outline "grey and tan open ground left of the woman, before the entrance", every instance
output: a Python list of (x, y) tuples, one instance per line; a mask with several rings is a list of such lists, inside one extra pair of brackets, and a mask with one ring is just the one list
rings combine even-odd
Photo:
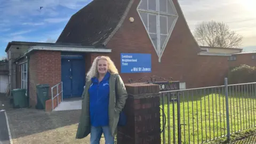
[[(14, 143), (90, 143), (90, 135), (75, 139), (81, 110), (45, 112), (24, 108), (6, 112)], [(103, 138), (100, 143), (105, 143)]]

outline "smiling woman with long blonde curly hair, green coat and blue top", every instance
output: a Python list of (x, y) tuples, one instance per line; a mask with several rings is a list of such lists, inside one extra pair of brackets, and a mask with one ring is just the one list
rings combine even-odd
[(82, 113), (76, 138), (91, 133), (91, 144), (99, 143), (102, 132), (106, 143), (114, 144), (119, 114), (128, 97), (122, 78), (109, 57), (97, 57), (86, 76)]

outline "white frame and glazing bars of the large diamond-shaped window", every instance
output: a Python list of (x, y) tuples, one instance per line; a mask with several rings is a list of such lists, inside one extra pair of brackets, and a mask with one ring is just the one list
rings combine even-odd
[[(174, 26), (175, 26), (175, 24), (176, 24), (176, 22), (177, 22), (177, 20), (178, 20), (179, 15), (178, 15), (178, 13), (177, 13), (177, 10), (175, 9), (175, 6), (174, 6), (172, 0), (166, 0), (166, 11), (167, 11), (166, 13), (160, 11), (160, 8), (159, 8), (160, 2), (159, 2), (159, 0), (155, 0), (155, 1), (156, 1), (156, 11), (148, 10), (148, 9), (149, 9), (149, 5), (147, 5), (147, 10), (139, 9), (139, 6), (140, 6), (140, 4), (142, 3), (142, 1), (147, 1), (147, 3), (148, 3), (149, 0), (141, 0), (140, 3), (139, 3), (138, 6), (137, 6), (137, 12), (138, 12), (138, 14), (139, 14), (139, 16), (140, 16), (140, 19), (141, 19), (143, 25), (145, 26), (145, 29), (147, 28), (146, 30), (147, 30), (147, 34), (148, 34), (149, 38), (150, 38), (150, 34), (153, 34), (153, 33), (149, 33), (149, 18), (148, 18), (148, 22), (147, 22), (147, 26), (146, 26), (145, 23), (143, 22), (143, 19), (142, 19), (142, 17), (141, 17), (141, 15), (140, 15), (139, 12), (147, 13), (147, 17), (148, 17), (149, 14), (154, 14), (154, 15), (156, 15), (157, 47), (154, 45), (154, 43), (153, 43), (153, 41), (151, 40), (151, 38), (150, 38), (150, 41), (151, 41), (151, 43), (153, 44), (154, 49), (155, 49), (155, 51), (156, 51), (156, 53), (157, 53), (157, 55), (158, 55), (158, 61), (161, 62), (161, 57), (162, 57), (162, 55), (163, 55), (163, 52), (164, 52), (165, 47), (166, 47), (166, 45), (167, 45), (167, 42), (168, 42), (169, 39), (170, 39), (170, 36), (171, 36), (171, 34), (172, 34), (173, 28), (174, 28)], [(171, 4), (171, 6), (173, 7), (174, 14), (168, 13), (168, 4), (167, 4), (167, 1), (169, 1), (170, 4)], [(166, 25), (166, 26), (167, 26), (167, 35), (166, 35), (166, 34), (161, 34), (161, 29), (160, 29), (160, 16), (166, 17), (166, 19), (167, 19), (167, 25)], [(171, 28), (170, 28), (170, 31), (169, 31), (169, 28), (168, 28), (168, 17), (169, 17), (169, 16), (175, 18), (174, 21), (173, 21), (173, 25), (172, 25)], [(169, 31), (169, 33), (168, 33), (168, 31)], [(163, 43), (163, 49), (161, 49), (161, 35), (167, 36), (166, 39), (165, 39), (165, 41), (164, 41), (164, 43)]]

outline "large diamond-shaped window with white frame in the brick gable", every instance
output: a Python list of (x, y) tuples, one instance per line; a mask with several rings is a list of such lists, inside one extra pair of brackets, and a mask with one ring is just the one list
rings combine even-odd
[(175, 6), (172, 0), (141, 0), (138, 12), (160, 61), (178, 19)]

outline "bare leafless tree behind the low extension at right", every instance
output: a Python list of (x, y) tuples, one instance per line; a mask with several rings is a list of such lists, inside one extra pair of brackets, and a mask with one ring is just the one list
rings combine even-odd
[(196, 41), (203, 46), (236, 48), (242, 45), (243, 37), (229, 29), (223, 22), (202, 22), (194, 31)]

